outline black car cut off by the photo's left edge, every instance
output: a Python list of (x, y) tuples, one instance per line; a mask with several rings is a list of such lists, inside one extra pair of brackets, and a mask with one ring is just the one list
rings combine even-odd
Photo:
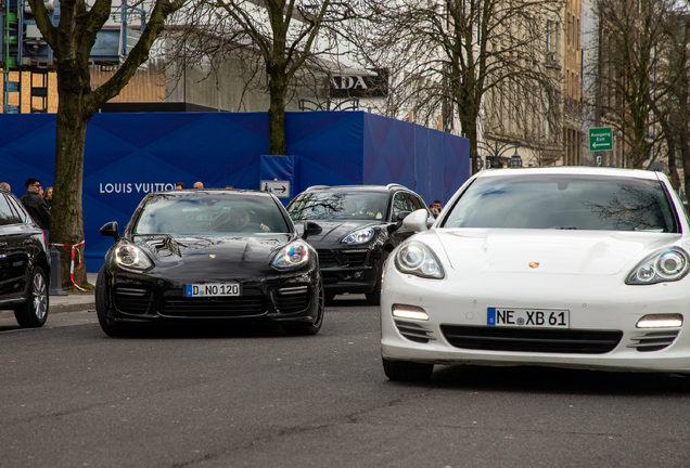
[(0, 310), (13, 310), (22, 327), (40, 327), (48, 318), (47, 246), (22, 202), (0, 188)]

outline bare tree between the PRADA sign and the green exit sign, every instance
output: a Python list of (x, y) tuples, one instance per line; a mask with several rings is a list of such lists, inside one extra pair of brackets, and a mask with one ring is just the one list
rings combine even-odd
[[(562, 1), (371, 2), (373, 26), (357, 43), (367, 62), (392, 69), (388, 114), (412, 110), (433, 125), (442, 109), (446, 131), (457, 118), (473, 171), (482, 122), (491, 139), (535, 129), (558, 138), (561, 76), (547, 60), (546, 31), (559, 23)], [(501, 128), (509, 120), (514, 128)]]

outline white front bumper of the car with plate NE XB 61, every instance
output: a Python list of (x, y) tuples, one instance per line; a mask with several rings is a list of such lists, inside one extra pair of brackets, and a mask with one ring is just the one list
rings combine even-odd
[[(424, 280), (403, 275), (388, 265), (381, 295), (383, 358), (434, 364), (545, 365), (690, 373), (690, 333), (685, 332), (687, 324), (646, 329), (636, 326), (642, 316), (649, 314), (681, 314), (683, 320), (689, 320), (688, 278), (657, 285), (628, 286), (615, 275), (471, 275), (452, 270), (446, 273), (444, 280)], [(394, 317), (394, 303), (422, 308), (429, 314), (429, 321)], [(590, 340), (604, 344), (600, 348), (552, 348), (557, 351), (549, 351), (548, 347), (546, 350), (529, 347), (516, 348), (527, 351), (511, 349), (502, 342), (528, 340), (535, 334), (525, 327), (489, 327), (488, 308), (567, 310), (568, 334), (574, 341)], [(487, 338), (494, 330), (507, 334)], [(467, 340), (467, 337), (457, 339), (458, 335), (465, 332), (476, 333), (480, 338), (475, 341), (493, 340), (498, 343), (495, 344), (498, 349), (477, 346), (472, 339)], [(547, 333), (539, 339), (548, 342), (561, 337)]]

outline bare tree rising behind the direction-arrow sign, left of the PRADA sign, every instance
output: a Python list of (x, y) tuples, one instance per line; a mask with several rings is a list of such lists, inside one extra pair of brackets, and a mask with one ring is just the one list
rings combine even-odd
[(331, 0), (196, 0), (184, 11), (187, 27), (175, 34), (171, 56), (184, 63), (212, 65), (239, 58), (247, 83), (265, 83), (270, 153), (284, 155), (285, 101), (296, 82), (325, 83), (320, 55), (335, 53), (336, 43), (323, 26), (352, 16), (353, 6)]

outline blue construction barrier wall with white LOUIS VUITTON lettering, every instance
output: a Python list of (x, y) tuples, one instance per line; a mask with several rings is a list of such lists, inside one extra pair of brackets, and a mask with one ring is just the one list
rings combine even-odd
[[(290, 180), (291, 196), (311, 185), (395, 182), (445, 203), (470, 177), (469, 140), (400, 120), (288, 113), (290, 156), (267, 156), (268, 127), (266, 113), (97, 114), (84, 162), (87, 271), (113, 244), (99, 229), (124, 225), (145, 194), (176, 182), (258, 190), (261, 180)], [(20, 196), (28, 178), (51, 186), (55, 115), (0, 115), (0, 182)]]

